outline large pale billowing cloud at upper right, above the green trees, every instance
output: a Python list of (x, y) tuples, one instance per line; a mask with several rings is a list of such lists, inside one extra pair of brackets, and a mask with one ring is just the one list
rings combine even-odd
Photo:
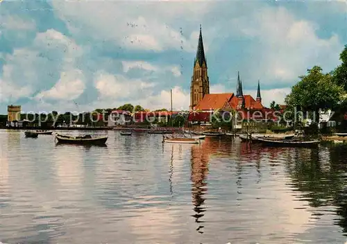
[(259, 42), (251, 52), (258, 53), (249, 66), (262, 80), (293, 80), (305, 73), (307, 65), (334, 67), (343, 48), (335, 34), (328, 39), (316, 35), (319, 26), (296, 19), (285, 8), (262, 8), (253, 16), (232, 20), (239, 35)]

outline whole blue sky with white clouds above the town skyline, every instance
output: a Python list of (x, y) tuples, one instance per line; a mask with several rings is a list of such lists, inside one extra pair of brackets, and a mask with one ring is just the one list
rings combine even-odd
[(124, 103), (188, 110), (202, 26), (210, 92), (283, 103), (298, 76), (340, 64), (347, 1), (15, 1), (0, 3), (0, 113)]

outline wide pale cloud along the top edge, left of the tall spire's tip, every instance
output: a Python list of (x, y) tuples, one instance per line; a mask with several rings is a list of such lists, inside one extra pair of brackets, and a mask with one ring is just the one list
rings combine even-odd
[[(58, 15), (69, 22), (70, 31), (83, 28), (92, 38), (116, 41), (128, 49), (194, 52), (196, 39), (187, 39), (172, 23), (178, 18), (200, 19), (210, 3), (122, 3), (53, 1)], [(194, 9), (194, 11), (193, 11)], [(90, 21), (93, 16), (93, 21)], [(111, 27), (112, 26), (112, 27)], [(117, 28), (113, 29), (114, 26)], [(77, 30), (78, 30), (77, 28)], [(110, 30), (111, 28), (111, 30)], [(75, 33), (75, 32), (74, 32)], [(81, 34), (75, 33), (77, 35)]]

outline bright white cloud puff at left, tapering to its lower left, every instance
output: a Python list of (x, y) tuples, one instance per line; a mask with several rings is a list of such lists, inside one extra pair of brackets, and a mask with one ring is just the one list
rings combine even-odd
[(83, 93), (85, 89), (83, 80), (84, 76), (81, 70), (76, 69), (62, 72), (60, 74), (60, 80), (58, 80), (54, 87), (48, 91), (40, 92), (35, 98), (72, 101)]

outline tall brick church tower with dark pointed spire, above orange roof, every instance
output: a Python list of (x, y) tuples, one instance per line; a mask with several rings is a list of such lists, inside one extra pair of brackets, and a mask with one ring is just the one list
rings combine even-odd
[(210, 81), (208, 79), (208, 64), (206, 63), (205, 52), (203, 51), (203, 35), (198, 37), (198, 50), (194, 59), (194, 69), (192, 82), (190, 85), (190, 106), (189, 110), (194, 110), (205, 94), (210, 94)]

